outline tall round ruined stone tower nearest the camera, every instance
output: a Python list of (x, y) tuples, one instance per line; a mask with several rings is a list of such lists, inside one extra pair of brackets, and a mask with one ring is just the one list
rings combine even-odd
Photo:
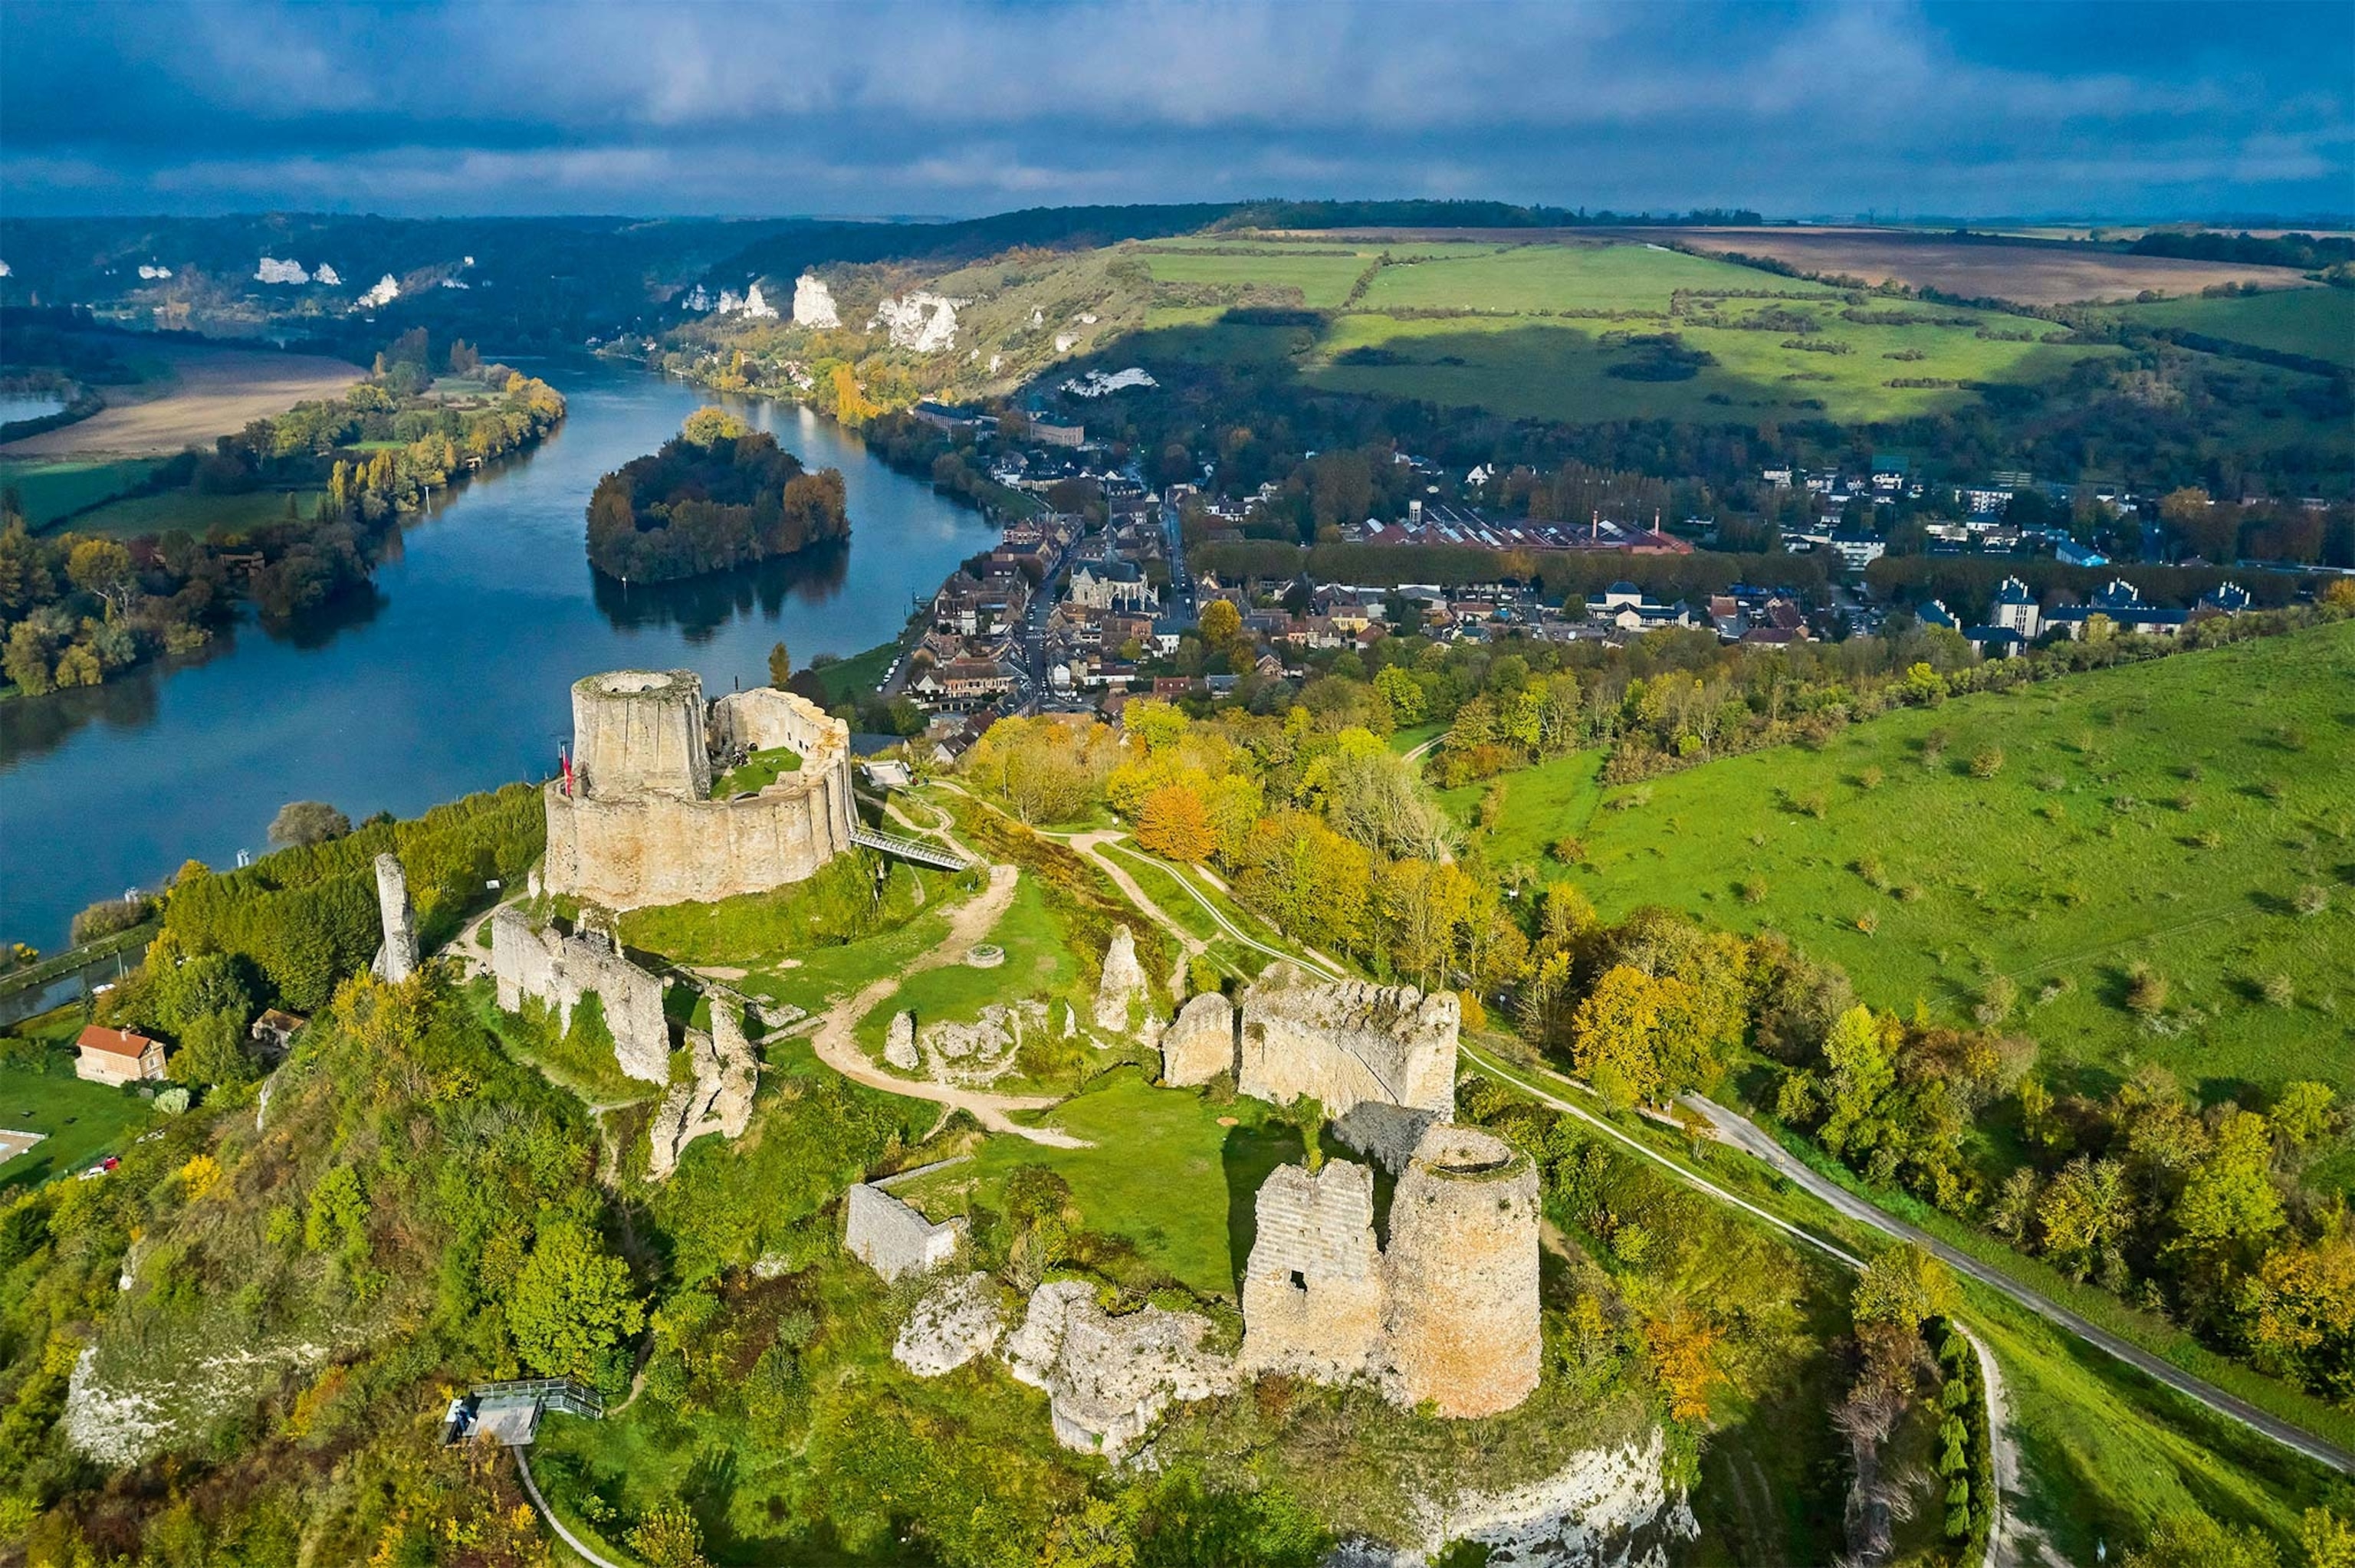
[(1512, 1410), (1538, 1387), (1538, 1168), (1512, 1144), (1439, 1123), (1389, 1201), (1385, 1328), (1406, 1403)]

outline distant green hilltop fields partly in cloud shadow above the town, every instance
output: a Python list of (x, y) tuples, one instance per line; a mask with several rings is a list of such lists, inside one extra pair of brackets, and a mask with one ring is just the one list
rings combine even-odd
[[(1382, 247), (1356, 257), (1149, 257), (1154, 275), (1187, 264), (1194, 283), (1288, 285), (1331, 268), (1333, 311)], [(1331, 240), (1302, 240), (1302, 252)], [(1406, 261), (1406, 254), (1422, 259)], [(2037, 384), (2098, 346), (2061, 346), (2061, 327), (1999, 311), (1863, 299), (1757, 268), (1627, 242), (1458, 242), (1389, 252), (1364, 297), (1324, 323), (1222, 320), (1215, 304), (1163, 304), (1145, 315), (1137, 356), (1170, 363), (1283, 367), (1333, 391), (1422, 398), (1538, 419), (1893, 419), (1976, 403), (1973, 384)], [(1910, 320), (1849, 320), (1903, 315)], [(1667, 341), (1663, 334), (1672, 334)], [(1656, 341), (1644, 341), (1656, 339)], [(1797, 346), (1806, 344), (1806, 346)], [(1900, 384), (1900, 386), (1893, 386)]]

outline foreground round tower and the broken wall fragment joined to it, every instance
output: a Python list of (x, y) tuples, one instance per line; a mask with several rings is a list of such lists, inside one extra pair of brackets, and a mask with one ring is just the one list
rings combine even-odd
[(1243, 1373), (1373, 1380), (1399, 1406), (1495, 1415), (1538, 1387), (1538, 1168), (1477, 1128), (1425, 1128), (1375, 1243), (1373, 1172), (1274, 1170), (1243, 1274)]

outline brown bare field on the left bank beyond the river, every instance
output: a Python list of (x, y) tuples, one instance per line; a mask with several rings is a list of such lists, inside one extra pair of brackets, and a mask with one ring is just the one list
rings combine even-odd
[(316, 353), (224, 348), (217, 344), (125, 341), (134, 360), (162, 360), (170, 381), (99, 386), (106, 398), (89, 419), (0, 445), (0, 457), (172, 457), (233, 436), (254, 419), (297, 403), (334, 398), (360, 379), (358, 365)]

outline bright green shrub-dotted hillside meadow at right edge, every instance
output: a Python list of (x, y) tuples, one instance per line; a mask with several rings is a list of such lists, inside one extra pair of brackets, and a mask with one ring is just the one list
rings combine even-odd
[[(1575, 881), (1608, 918), (1783, 930), (1882, 1008), (1966, 1022), (2006, 977), (2061, 1090), (2155, 1062), (2207, 1099), (2350, 1092), (2350, 690), (2339, 624), (1905, 709), (1608, 791)], [(1543, 798), (1507, 796), (1507, 831), (1573, 831), (1521, 826)], [(2134, 965), (2167, 984), (2150, 1017)]]

